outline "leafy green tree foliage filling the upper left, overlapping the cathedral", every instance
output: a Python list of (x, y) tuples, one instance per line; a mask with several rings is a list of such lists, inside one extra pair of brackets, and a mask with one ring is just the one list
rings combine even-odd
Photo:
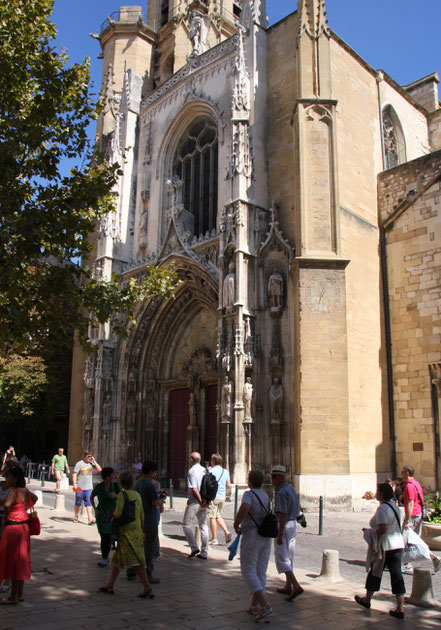
[[(169, 297), (173, 274), (143, 283), (93, 279), (90, 235), (113, 209), (118, 164), (94, 154), (87, 126), (89, 64), (68, 64), (53, 45), (53, 0), (0, 3), (0, 348), (22, 351), (51, 337), (86, 342), (89, 313), (123, 332), (149, 296)], [(61, 165), (80, 158), (68, 175)], [(81, 267), (76, 264), (81, 261)]]

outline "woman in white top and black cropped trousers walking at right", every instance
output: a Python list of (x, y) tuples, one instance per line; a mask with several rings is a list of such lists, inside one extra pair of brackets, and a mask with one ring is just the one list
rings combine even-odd
[(355, 601), (364, 608), (371, 607), (374, 593), (380, 590), (381, 577), (385, 567), (390, 572), (392, 593), (397, 599), (397, 607), (389, 614), (397, 619), (404, 619), (404, 586), (401, 573), (401, 556), (404, 541), (401, 534), (401, 512), (393, 502), (394, 492), (388, 483), (380, 483), (377, 487), (376, 499), (380, 505), (370, 520), (371, 529), (363, 529), (365, 539), (369, 544), (368, 561), (369, 573), (366, 579), (366, 595), (355, 596)]

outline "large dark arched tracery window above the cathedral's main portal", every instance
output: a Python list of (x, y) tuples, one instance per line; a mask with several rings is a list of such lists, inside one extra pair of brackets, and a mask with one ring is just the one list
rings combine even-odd
[(173, 174), (183, 182), (182, 203), (194, 217), (196, 236), (216, 227), (217, 170), (217, 127), (199, 116), (181, 138), (173, 163)]

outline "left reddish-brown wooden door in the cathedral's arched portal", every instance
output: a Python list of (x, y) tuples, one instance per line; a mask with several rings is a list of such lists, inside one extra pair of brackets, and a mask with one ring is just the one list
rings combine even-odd
[(170, 434), (168, 468), (173, 483), (185, 477), (187, 468), (187, 427), (190, 422), (188, 401), (189, 389), (174, 389), (170, 392)]

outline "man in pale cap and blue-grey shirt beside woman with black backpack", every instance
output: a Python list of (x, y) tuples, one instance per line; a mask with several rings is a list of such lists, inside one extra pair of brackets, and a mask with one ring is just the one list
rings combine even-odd
[(278, 535), (274, 540), (274, 556), (277, 571), (284, 573), (286, 578), (285, 586), (277, 591), (288, 595), (288, 601), (293, 601), (303, 593), (293, 569), (297, 517), (300, 514), (299, 496), (296, 489), (286, 481), (285, 466), (273, 466), (271, 482), (276, 489), (276, 515), (279, 521)]

